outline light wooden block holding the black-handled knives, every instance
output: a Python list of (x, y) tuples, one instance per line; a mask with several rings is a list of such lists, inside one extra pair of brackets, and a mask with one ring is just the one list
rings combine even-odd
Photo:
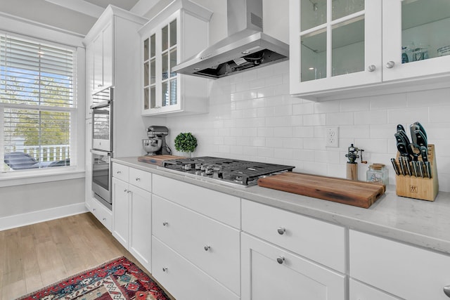
[[(397, 164), (399, 164), (399, 156), (400, 153), (397, 152)], [(419, 156), (418, 159), (422, 160), (422, 157)], [(431, 164), (431, 178), (421, 178), (409, 175), (395, 176), (396, 192), (398, 196), (435, 201), (439, 191), (435, 145), (428, 145), (428, 162)]]

